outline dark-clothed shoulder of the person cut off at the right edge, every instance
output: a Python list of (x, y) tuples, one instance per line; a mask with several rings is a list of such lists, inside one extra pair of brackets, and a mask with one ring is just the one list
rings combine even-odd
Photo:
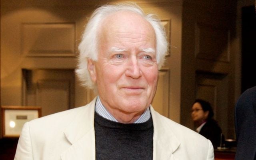
[(239, 97), (235, 107), (236, 160), (256, 160), (256, 86)]

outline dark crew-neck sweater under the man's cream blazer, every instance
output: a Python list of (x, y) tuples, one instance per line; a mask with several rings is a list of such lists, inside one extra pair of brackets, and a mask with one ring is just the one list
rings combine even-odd
[(152, 160), (153, 122), (122, 124), (95, 112), (96, 160)]

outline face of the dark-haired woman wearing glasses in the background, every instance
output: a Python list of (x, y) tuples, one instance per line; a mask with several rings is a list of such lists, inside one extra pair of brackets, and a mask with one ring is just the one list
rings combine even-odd
[(209, 111), (204, 112), (200, 103), (196, 102), (191, 108), (191, 117), (194, 122), (204, 122), (208, 117)]

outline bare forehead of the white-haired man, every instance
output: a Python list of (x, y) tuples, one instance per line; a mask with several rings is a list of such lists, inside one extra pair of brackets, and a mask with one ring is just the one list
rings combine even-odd
[(99, 37), (100, 46), (104, 46), (107, 52), (112, 52), (112, 47), (115, 50), (118, 48), (116, 51), (149, 51), (148, 48), (156, 47), (154, 28), (142, 16), (130, 11), (115, 12), (107, 16), (102, 23)]

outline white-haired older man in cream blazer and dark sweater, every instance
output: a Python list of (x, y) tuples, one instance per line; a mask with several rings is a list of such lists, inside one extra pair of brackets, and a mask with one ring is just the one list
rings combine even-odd
[(214, 160), (209, 140), (150, 105), (167, 51), (165, 32), (135, 4), (106, 5), (79, 45), (90, 104), (26, 123), (17, 160)]

